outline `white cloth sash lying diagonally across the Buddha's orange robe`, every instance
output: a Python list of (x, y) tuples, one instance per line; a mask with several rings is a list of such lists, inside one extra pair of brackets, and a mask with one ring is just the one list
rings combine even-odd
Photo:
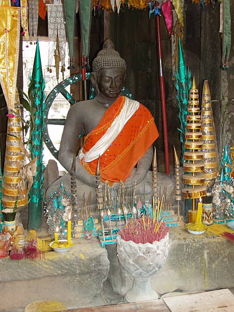
[(99, 155), (102, 155), (111, 145), (111, 143), (117, 138), (117, 136), (122, 131), (125, 123), (138, 110), (139, 106), (140, 103), (138, 101), (131, 100), (125, 97), (125, 102), (121, 112), (114, 119), (111, 126), (107, 129), (106, 133), (85, 154), (83, 153), (83, 149), (81, 148), (81, 150), (79, 151), (80, 160), (82, 160), (84, 163), (89, 163), (97, 159)]

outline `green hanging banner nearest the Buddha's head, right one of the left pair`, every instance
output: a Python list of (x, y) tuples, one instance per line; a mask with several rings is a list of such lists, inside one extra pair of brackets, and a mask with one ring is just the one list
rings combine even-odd
[(80, 0), (80, 19), (82, 37), (82, 56), (89, 55), (89, 36), (91, 28), (91, 0)]

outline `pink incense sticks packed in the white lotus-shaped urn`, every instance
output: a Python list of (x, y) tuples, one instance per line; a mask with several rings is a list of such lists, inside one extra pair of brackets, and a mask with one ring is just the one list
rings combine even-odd
[(152, 244), (161, 241), (167, 235), (168, 228), (162, 221), (155, 221), (144, 215), (139, 219), (132, 219), (131, 222), (120, 228), (119, 235), (124, 241), (133, 241), (136, 244)]

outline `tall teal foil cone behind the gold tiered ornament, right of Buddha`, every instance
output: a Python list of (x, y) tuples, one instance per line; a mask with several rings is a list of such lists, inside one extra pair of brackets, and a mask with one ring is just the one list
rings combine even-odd
[(189, 100), (189, 90), (192, 86), (191, 71), (185, 65), (183, 49), (181, 46), (180, 38), (178, 41), (178, 65), (175, 71), (175, 88), (177, 90), (176, 100), (178, 108), (178, 118), (180, 122), (180, 127), (177, 128), (179, 131), (179, 138), (181, 142), (181, 162), (184, 163), (184, 152), (185, 152), (185, 131), (186, 131), (186, 116), (188, 114), (188, 100)]

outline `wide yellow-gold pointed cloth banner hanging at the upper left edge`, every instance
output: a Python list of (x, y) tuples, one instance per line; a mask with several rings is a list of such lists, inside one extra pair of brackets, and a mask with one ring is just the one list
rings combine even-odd
[(0, 8), (0, 83), (9, 110), (14, 109), (19, 56), (20, 8)]

